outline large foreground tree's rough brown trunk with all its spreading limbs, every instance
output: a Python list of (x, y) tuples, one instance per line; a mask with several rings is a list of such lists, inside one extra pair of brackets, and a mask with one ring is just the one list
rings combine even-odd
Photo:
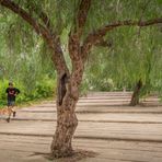
[[(30, 0), (20, 3), (19, 1), (13, 2), (12, 0), (0, 0), (0, 4), (2, 7), (10, 9), (15, 14), (20, 15), (24, 21), (26, 21), (35, 30), (35, 32), (44, 38), (44, 40), (48, 45), (48, 48), (50, 48), (50, 53), (53, 54), (53, 62), (56, 67), (58, 79), (57, 127), (51, 143), (51, 153), (54, 157), (57, 158), (68, 157), (73, 153), (71, 141), (78, 125), (74, 109), (79, 100), (79, 88), (82, 82), (84, 65), (92, 47), (100, 43), (104, 38), (104, 36), (114, 28), (121, 26), (143, 27), (148, 25), (160, 24), (162, 23), (162, 18), (151, 18), (147, 21), (117, 20), (113, 23), (108, 23), (107, 25), (101, 25), (100, 23), (99, 28), (95, 27), (93, 28), (93, 31), (90, 31), (88, 26), (89, 23), (92, 21), (90, 19), (92, 18), (92, 15), (90, 16), (89, 14), (94, 13), (94, 8), (97, 7), (99, 9), (99, 5), (101, 4), (104, 11), (106, 11), (106, 3), (108, 3), (108, 7), (112, 8), (112, 4), (114, 4), (113, 1), (50, 1), (51, 7), (54, 7), (55, 4), (59, 4), (57, 5), (57, 9), (55, 8), (56, 11), (60, 9), (63, 3), (67, 3), (68, 8), (70, 8), (70, 5), (73, 7), (73, 14), (70, 22), (71, 24), (67, 25), (70, 28), (68, 38), (68, 53), (72, 63), (72, 69), (70, 70), (66, 63), (60, 42), (60, 33), (62, 32), (62, 28), (65, 28), (65, 26), (62, 28), (60, 27), (60, 23), (61, 21), (63, 21), (61, 14), (63, 13), (57, 12), (58, 21), (56, 21), (57, 19), (55, 19), (57, 23), (54, 24), (50, 19), (50, 12), (46, 13), (46, 5), (45, 10), (43, 8), (44, 3), (44, 0), (42, 1), (42, 3), (36, 0)], [(48, 5), (50, 4), (48, 3)], [(51, 13), (54, 13), (53, 10)], [(102, 8), (100, 8), (100, 10), (102, 10)], [(66, 11), (66, 9), (63, 9), (62, 12), (63, 11)], [(115, 10), (115, 12), (116, 11), (119, 12), (118, 8)], [(104, 15), (106, 14), (107, 13), (105, 13)], [(66, 14), (63, 14), (63, 16), (66, 16)], [(105, 18), (103, 16), (103, 20)]]

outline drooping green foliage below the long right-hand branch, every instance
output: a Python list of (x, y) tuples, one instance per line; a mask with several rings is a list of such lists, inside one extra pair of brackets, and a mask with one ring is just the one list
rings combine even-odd
[[(89, 57), (84, 88), (91, 90), (134, 90), (142, 80), (142, 94), (161, 91), (161, 27), (124, 27), (105, 37), (111, 47), (95, 47)], [(112, 85), (107, 84), (111, 80)], [(89, 86), (88, 86), (89, 83)], [(161, 91), (162, 92), (162, 91)]]

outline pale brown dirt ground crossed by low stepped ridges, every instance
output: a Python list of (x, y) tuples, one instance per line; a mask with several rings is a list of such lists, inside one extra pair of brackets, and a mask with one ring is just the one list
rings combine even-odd
[[(162, 106), (127, 106), (130, 93), (91, 93), (81, 97), (76, 149), (97, 153), (82, 162), (162, 162)], [(48, 162), (56, 127), (55, 102), (24, 107), (8, 124), (0, 118), (0, 162)], [(68, 162), (69, 160), (63, 160)], [(62, 162), (62, 160), (58, 160)]]

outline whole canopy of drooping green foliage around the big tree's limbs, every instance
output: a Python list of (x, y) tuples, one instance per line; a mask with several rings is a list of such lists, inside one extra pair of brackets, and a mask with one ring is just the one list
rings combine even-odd
[[(42, 11), (47, 14), (53, 30), (60, 35), (66, 60), (71, 69), (68, 38), (80, 0), (14, 2), (39, 23)], [(21, 18), (1, 7), (0, 11), (0, 79), (16, 81), (25, 92), (22, 99), (39, 97), (38, 94), (46, 96), (46, 90), (50, 93), (47, 80), (56, 80), (46, 44), (27, 23), (22, 23)], [(93, 0), (82, 39), (89, 33), (112, 22), (161, 18), (161, 0)], [(132, 90), (139, 79), (144, 83), (144, 93), (151, 90), (160, 91), (161, 36), (161, 25), (147, 28), (120, 27), (109, 32), (104, 39), (111, 42), (112, 46), (93, 48), (81, 91), (111, 91), (124, 86)]]

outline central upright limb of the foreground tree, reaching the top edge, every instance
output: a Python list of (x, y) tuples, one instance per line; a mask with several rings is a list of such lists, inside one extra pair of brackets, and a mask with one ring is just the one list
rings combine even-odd
[[(81, 1), (81, 2), (80, 2)], [(72, 62), (72, 72), (71, 72), (71, 91), (76, 96), (73, 99), (78, 99), (78, 90), (79, 85), (82, 81), (82, 74), (84, 70), (84, 63), (81, 56), (81, 36), (84, 31), (84, 25), (88, 18), (88, 12), (91, 7), (91, 0), (80, 0), (79, 9), (77, 12), (77, 16), (74, 18), (74, 24), (71, 27), (69, 34), (69, 55)]]

